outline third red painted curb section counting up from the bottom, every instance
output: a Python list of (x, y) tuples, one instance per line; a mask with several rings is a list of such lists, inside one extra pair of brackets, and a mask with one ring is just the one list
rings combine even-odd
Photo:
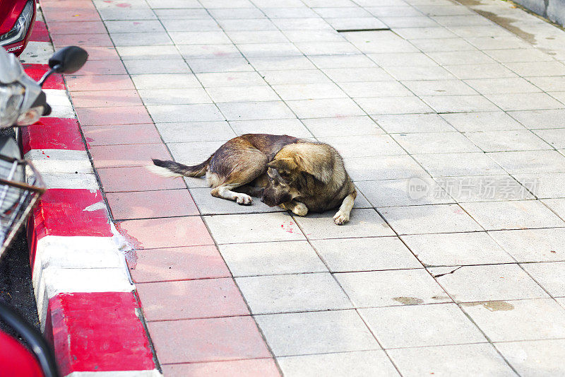
[(84, 151), (85, 146), (76, 119), (41, 118), (22, 128), (23, 153), (32, 149)]

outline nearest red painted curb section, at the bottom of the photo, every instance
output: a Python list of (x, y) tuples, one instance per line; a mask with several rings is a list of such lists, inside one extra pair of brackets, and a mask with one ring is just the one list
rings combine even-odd
[(76, 371), (155, 369), (132, 293), (58, 294), (49, 300), (45, 333), (61, 375)]

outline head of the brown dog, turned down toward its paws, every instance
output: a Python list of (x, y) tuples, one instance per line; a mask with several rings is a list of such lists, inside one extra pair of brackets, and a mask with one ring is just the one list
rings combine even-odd
[(296, 181), (300, 172), (293, 158), (278, 158), (267, 164), (268, 182), (261, 202), (269, 207), (290, 202), (299, 195)]

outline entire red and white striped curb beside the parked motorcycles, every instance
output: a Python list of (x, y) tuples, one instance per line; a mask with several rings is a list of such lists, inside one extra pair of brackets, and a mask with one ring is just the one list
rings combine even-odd
[[(53, 52), (38, 18), (22, 55), (37, 79)], [(127, 245), (109, 220), (61, 77), (45, 86), (50, 117), (23, 129), (21, 144), (47, 185), (28, 243), (42, 331), (62, 376), (160, 376), (126, 267)]]

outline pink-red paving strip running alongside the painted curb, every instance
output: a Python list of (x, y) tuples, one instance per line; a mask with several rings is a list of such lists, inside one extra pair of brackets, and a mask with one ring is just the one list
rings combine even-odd
[[(56, 44), (85, 40), (90, 54), (66, 83), (109, 208), (122, 220), (116, 226), (134, 248), (128, 255), (131, 276), (163, 372), (279, 376), (186, 185), (141, 166), (165, 152), (164, 144), (117, 52), (107, 45), (93, 4), (43, 0), (42, 6)], [(90, 37), (83, 37), (76, 21)], [(118, 106), (105, 100), (112, 97)]]

